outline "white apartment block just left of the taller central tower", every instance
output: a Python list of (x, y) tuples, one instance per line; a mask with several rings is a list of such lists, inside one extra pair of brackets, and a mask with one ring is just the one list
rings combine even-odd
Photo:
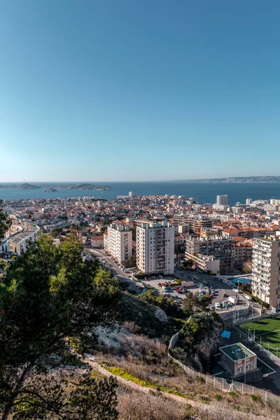
[(106, 233), (105, 250), (118, 262), (128, 262), (132, 258), (132, 231), (123, 223), (115, 222), (108, 226)]

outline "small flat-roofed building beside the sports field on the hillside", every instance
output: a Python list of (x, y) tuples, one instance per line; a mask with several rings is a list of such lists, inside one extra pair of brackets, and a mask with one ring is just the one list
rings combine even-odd
[(258, 358), (253, 351), (241, 343), (220, 347), (221, 365), (232, 379), (241, 379), (246, 374), (248, 380), (259, 379)]

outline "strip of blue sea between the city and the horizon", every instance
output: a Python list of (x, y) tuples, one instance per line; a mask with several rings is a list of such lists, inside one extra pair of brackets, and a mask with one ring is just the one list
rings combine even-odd
[[(89, 182), (89, 181), (87, 181)], [(228, 194), (229, 203), (233, 206), (236, 202), (245, 202), (246, 198), (252, 200), (269, 200), (270, 198), (280, 198), (280, 183), (197, 183), (186, 181), (161, 181), (161, 182), (104, 182), (95, 183), (96, 186), (110, 186), (108, 191), (79, 191), (58, 189), (57, 193), (45, 193), (45, 188), (56, 188), (58, 185), (66, 183), (41, 183), (29, 182), (40, 189), (18, 190), (16, 188), (0, 188), (0, 199), (17, 200), (20, 198), (51, 198), (51, 197), (103, 197), (113, 200), (117, 195), (128, 195), (129, 191), (134, 191), (137, 195), (185, 195), (186, 197), (196, 197), (200, 204), (216, 202), (216, 195)], [(78, 183), (78, 182), (71, 182)], [(15, 183), (3, 183), (13, 185)], [(16, 185), (16, 184), (15, 184)]]

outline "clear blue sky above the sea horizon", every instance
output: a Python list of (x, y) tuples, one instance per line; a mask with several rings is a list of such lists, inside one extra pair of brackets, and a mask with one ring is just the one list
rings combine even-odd
[(2, 0), (0, 181), (279, 175), (279, 0)]

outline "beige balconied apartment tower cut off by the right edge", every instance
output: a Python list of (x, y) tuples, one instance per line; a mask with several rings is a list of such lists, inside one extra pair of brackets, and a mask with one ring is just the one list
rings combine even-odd
[(252, 293), (276, 311), (280, 304), (280, 237), (255, 238), (253, 243)]

